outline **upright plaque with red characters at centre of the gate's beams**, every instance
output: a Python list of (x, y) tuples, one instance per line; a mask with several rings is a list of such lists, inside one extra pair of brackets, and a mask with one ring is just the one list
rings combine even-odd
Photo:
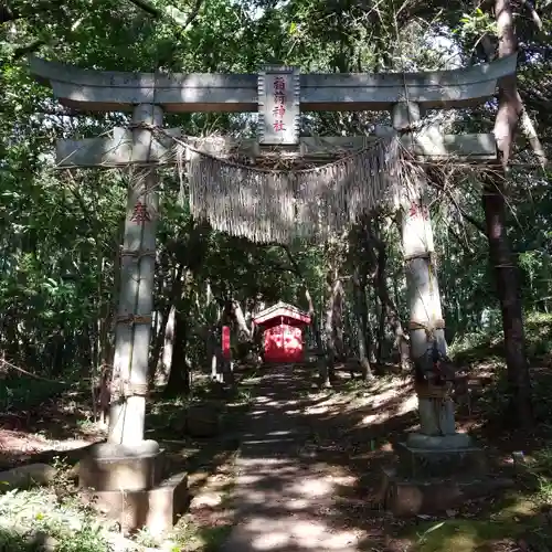
[(258, 141), (262, 146), (299, 144), (299, 72), (269, 66), (258, 75)]

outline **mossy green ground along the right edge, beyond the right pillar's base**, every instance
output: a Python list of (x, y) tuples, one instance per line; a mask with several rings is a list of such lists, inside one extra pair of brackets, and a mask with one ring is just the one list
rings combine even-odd
[[(528, 357), (533, 374), (533, 400), (539, 424), (528, 436), (532, 450), (517, 486), (506, 496), (476, 505), (465, 511), (450, 512), (445, 519), (425, 519), (406, 523), (401, 537), (413, 552), (491, 552), (552, 550), (552, 394), (550, 362), (552, 352), (552, 315), (529, 314), (526, 317)], [(507, 399), (507, 373), (503, 365), (501, 331), (475, 333), (453, 343), (452, 354), (471, 371), (491, 369), (492, 385), (479, 399), (482, 421), (496, 417)], [(544, 362), (543, 362), (544, 361)], [(505, 428), (506, 433), (507, 429)]]

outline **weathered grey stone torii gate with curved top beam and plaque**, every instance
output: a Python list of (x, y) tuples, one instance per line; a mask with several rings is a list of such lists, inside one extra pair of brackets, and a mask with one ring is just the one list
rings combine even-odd
[[(128, 195), (109, 443), (139, 446), (144, 439), (158, 208), (156, 168), (176, 163), (171, 137), (181, 136), (178, 128), (166, 128), (162, 134), (152, 131), (162, 128), (164, 112), (258, 112), (259, 140), (254, 148), (295, 146), (304, 153), (323, 157), (337, 147), (358, 149), (371, 138), (299, 138), (300, 110), (389, 110), (392, 127), (382, 131), (399, 132), (420, 160), (492, 162), (497, 148), (491, 134), (443, 135), (432, 127), (414, 131), (414, 126), (427, 109), (466, 108), (486, 102), (495, 94), (497, 81), (514, 73), (516, 63), (516, 56), (510, 56), (468, 68), (404, 74), (299, 75), (294, 67), (267, 66), (259, 75), (168, 76), (82, 70), (31, 59), (32, 74), (52, 86), (64, 106), (132, 114), (132, 128), (116, 128), (112, 137), (57, 142), (57, 163), (62, 168), (130, 166), (137, 168), (135, 178), (141, 179)], [(282, 93), (284, 89), (286, 94)], [(444, 321), (431, 261), (434, 246), (428, 211), (423, 198), (408, 200), (402, 208), (411, 351), (413, 360), (420, 362), (427, 357), (428, 330), (439, 349), (446, 351)], [(431, 400), (421, 396), (423, 434), (455, 434), (450, 405), (444, 415), (431, 411)]]

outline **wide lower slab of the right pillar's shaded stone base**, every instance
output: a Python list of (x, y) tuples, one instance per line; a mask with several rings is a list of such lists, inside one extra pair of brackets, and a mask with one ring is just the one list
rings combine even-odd
[(503, 477), (414, 479), (385, 468), (380, 496), (385, 509), (394, 516), (411, 517), (458, 508), (467, 500), (495, 495), (512, 486), (513, 480)]

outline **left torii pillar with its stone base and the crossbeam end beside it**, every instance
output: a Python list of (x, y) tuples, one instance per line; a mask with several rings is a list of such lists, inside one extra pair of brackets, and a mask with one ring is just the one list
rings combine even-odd
[(164, 152), (155, 128), (162, 126), (162, 119), (159, 105), (138, 104), (132, 107), (130, 130), (117, 129), (107, 142), (71, 140), (71, 161), (63, 146), (57, 148), (59, 159), (68, 167), (107, 163), (128, 171), (108, 439), (88, 450), (78, 476), (84, 496), (94, 497), (123, 530), (148, 527), (152, 533), (172, 527), (188, 496), (185, 474), (163, 480), (159, 445), (144, 438), (159, 211), (157, 167), (162, 161), (159, 152)]

